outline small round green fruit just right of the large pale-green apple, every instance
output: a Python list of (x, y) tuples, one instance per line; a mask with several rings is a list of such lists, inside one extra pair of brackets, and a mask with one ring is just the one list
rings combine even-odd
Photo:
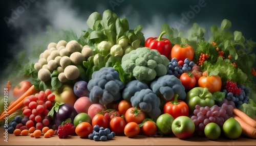
[(216, 123), (208, 123), (204, 128), (205, 136), (210, 140), (216, 140), (221, 135), (221, 128)]

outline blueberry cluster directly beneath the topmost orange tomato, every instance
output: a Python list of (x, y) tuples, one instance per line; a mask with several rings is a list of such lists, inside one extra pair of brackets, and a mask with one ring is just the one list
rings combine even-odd
[(179, 78), (183, 72), (188, 72), (195, 65), (195, 62), (186, 58), (184, 61), (172, 58), (168, 64), (167, 75), (174, 75)]

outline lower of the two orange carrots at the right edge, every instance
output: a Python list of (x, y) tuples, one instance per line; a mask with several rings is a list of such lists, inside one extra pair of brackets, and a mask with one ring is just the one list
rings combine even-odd
[(232, 116), (241, 125), (243, 135), (248, 136), (250, 138), (256, 138), (256, 129), (255, 128), (253, 128), (250, 125), (248, 125), (247, 123), (245, 123), (245, 121), (243, 119), (241, 119), (239, 116), (234, 115), (234, 114)]

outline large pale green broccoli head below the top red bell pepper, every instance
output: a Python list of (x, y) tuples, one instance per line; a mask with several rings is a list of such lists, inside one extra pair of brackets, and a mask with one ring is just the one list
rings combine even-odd
[(122, 57), (122, 68), (139, 81), (152, 81), (167, 73), (169, 60), (157, 50), (139, 47)]

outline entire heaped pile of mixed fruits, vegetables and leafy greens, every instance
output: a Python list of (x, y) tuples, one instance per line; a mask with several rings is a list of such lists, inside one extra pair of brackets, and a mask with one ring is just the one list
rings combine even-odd
[(111, 10), (92, 13), (87, 25), (80, 37), (48, 33), (47, 46), (33, 52), (37, 61), (10, 75), (5, 93), (13, 101), (0, 101), (8, 133), (256, 138), (256, 42), (228, 31), (229, 20), (212, 25), (208, 40), (197, 23), (186, 33), (164, 23), (158, 38), (145, 39), (141, 25), (131, 29)]

